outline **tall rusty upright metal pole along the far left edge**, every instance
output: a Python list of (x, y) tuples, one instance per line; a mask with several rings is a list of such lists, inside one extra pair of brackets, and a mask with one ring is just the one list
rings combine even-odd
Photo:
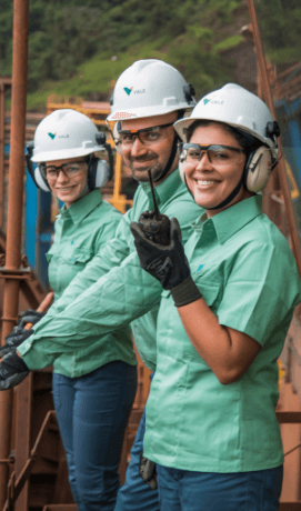
[[(29, 0), (13, 1), (12, 97), (10, 168), (8, 187), (7, 268), (19, 270), (21, 261), (21, 230), (23, 206), (23, 172), (26, 141), (26, 104), (28, 69)], [(7, 275), (3, 294), (2, 343), (18, 315), (19, 280)], [(10, 452), (12, 391), (0, 395), (0, 458)], [(0, 508), (6, 501), (8, 468), (0, 465)]]

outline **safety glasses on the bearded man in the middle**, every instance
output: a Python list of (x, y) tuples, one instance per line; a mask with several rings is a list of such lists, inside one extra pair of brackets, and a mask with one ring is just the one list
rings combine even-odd
[(123, 147), (131, 147), (134, 143), (134, 139), (138, 138), (143, 146), (151, 146), (155, 142), (161, 142), (168, 138), (168, 130), (169, 124), (161, 124), (161, 126), (152, 126), (151, 128), (143, 128), (142, 130), (120, 130), (118, 131), (118, 140), (117, 143), (120, 143)]

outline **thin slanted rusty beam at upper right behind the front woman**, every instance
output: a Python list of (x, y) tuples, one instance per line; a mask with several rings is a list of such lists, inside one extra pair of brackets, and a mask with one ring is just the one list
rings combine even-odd
[[(270, 83), (268, 79), (267, 62), (264, 58), (264, 52), (263, 52), (263, 47), (262, 47), (262, 41), (261, 41), (261, 36), (260, 36), (260, 30), (259, 30), (257, 12), (255, 12), (253, 0), (248, 0), (248, 8), (249, 8), (249, 14), (250, 14), (250, 20), (252, 24), (253, 39), (254, 39), (254, 46), (255, 46), (255, 51), (257, 51), (259, 72), (260, 72), (260, 77), (262, 81), (263, 94), (265, 98), (265, 102), (269, 109), (271, 110), (273, 118), (275, 119), (274, 104), (273, 104), (271, 88), (270, 88)], [(291, 203), (290, 190), (289, 190), (288, 180), (287, 180), (284, 160), (283, 158), (281, 158), (281, 156), (282, 156), (281, 143), (279, 142), (280, 161), (277, 168), (278, 168), (280, 184), (281, 184), (281, 189), (283, 192), (284, 202), (285, 202), (285, 212), (287, 212), (288, 220), (289, 220), (289, 231), (290, 231), (290, 237), (291, 237), (292, 250), (295, 257), (299, 274), (301, 275), (301, 250), (300, 250), (298, 231), (295, 227), (294, 214), (293, 214), (293, 209), (292, 209), (292, 203)]]

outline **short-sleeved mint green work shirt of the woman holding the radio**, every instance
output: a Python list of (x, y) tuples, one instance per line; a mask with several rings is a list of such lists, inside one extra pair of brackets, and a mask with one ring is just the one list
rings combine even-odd
[(238, 381), (222, 385), (164, 291), (143, 453), (199, 472), (275, 468), (283, 462), (277, 360), (301, 300), (295, 261), (259, 196), (205, 219), (185, 244), (192, 279), (219, 323), (247, 333), (261, 350)]

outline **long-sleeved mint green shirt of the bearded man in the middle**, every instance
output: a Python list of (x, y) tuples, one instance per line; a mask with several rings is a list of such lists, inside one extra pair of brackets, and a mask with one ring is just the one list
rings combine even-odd
[[(187, 241), (192, 233), (191, 222), (203, 210), (191, 198), (179, 171), (159, 183), (154, 192), (161, 213), (178, 218), (182, 239)], [(68, 357), (70, 351), (81, 350), (96, 338), (117, 328), (122, 330), (129, 323), (141, 359), (151, 370), (155, 369), (157, 314), (162, 288), (140, 268), (130, 231), (130, 223), (149, 209), (153, 209), (150, 184), (140, 183), (133, 207), (121, 218), (114, 239), (72, 280), (61, 299), (34, 325), (34, 335), (26, 343), (29, 348), (22, 344), (20, 352), (26, 353), (30, 369), (49, 365), (56, 357), (62, 353)]]

